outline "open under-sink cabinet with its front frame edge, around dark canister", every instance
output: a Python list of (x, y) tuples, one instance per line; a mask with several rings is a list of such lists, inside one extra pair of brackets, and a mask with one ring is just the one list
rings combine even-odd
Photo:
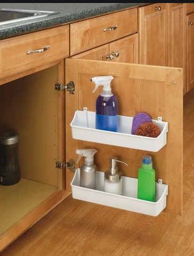
[(0, 86), (1, 133), (19, 135), (21, 181), (0, 186), (0, 250), (43, 218), (64, 198), (65, 171), (55, 162), (65, 161), (64, 60)]

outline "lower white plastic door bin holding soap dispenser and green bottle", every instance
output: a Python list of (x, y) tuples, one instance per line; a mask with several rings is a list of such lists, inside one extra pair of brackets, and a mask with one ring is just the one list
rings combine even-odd
[(97, 172), (96, 190), (80, 187), (80, 169), (71, 182), (75, 199), (118, 209), (157, 216), (166, 207), (168, 185), (156, 183), (156, 202), (137, 199), (138, 179), (122, 177), (122, 196), (104, 192), (104, 172)]

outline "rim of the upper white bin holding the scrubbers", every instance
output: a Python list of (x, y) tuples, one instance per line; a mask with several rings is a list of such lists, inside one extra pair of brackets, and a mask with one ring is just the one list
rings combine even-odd
[[(94, 129), (94, 128), (89, 128), (89, 127), (82, 127), (82, 126), (78, 126), (78, 125), (73, 125), (74, 119), (75, 119), (76, 114), (78, 113), (78, 111), (80, 111), (80, 112), (83, 113), (82, 110), (77, 110), (77, 111), (75, 111), (73, 120), (72, 120), (72, 122), (70, 123), (71, 128), (73, 127), (73, 128), (75, 128), (75, 129), (81, 129), (81, 130), (98, 131), (98, 132), (103, 132), (103, 133), (107, 133), (107, 134), (117, 134), (117, 135), (121, 135), (121, 136), (132, 136), (133, 138), (141, 138), (141, 139), (147, 139), (147, 140), (153, 140), (153, 141), (155, 141), (155, 140), (158, 140), (159, 138), (161, 138), (161, 137), (163, 136), (163, 133), (165, 132), (165, 130), (166, 130), (166, 128), (167, 128), (167, 125), (168, 125), (168, 122), (162, 121), (162, 122), (164, 123), (164, 128), (163, 128), (163, 130), (161, 131), (161, 134), (159, 134), (159, 136), (156, 137), (156, 138), (151, 138), (151, 137), (146, 137), (146, 136), (141, 136), (141, 135), (134, 135), (134, 134), (130, 134), (130, 133), (123, 133), (123, 132), (112, 132), (112, 131), (96, 130), (96, 129)], [(92, 111), (87, 111), (86, 113), (93, 113), (93, 112), (92, 112)], [(118, 116), (121, 116), (121, 115), (118, 115)], [(122, 117), (122, 116), (121, 116), (121, 117)], [(130, 117), (130, 116), (124, 116), (124, 117)], [(132, 117), (132, 118), (133, 118), (133, 117)], [(155, 120), (155, 119), (151, 119), (151, 120), (154, 121), (154, 122), (156, 122), (156, 123), (157, 123), (157, 122), (159, 123), (159, 121), (157, 121), (157, 120)]]

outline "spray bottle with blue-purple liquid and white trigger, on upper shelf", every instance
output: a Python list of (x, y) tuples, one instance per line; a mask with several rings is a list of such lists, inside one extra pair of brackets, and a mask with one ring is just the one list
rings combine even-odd
[(118, 103), (115, 95), (111, 93), (113, 78), (113, 76), (96, 76), (90, 78), (90, 81), (95, 83), (93, 93), (98, 86), (103, 86), (103, 93), (96, 100), (96, 129), (117, 132)]

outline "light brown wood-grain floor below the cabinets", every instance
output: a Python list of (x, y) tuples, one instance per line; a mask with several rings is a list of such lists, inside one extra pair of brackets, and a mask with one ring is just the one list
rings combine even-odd
[(194, 91), (184, 106), (182, 216), (163, 212), (149, 217), (70, 196), (1, 256), (193, 256)]

